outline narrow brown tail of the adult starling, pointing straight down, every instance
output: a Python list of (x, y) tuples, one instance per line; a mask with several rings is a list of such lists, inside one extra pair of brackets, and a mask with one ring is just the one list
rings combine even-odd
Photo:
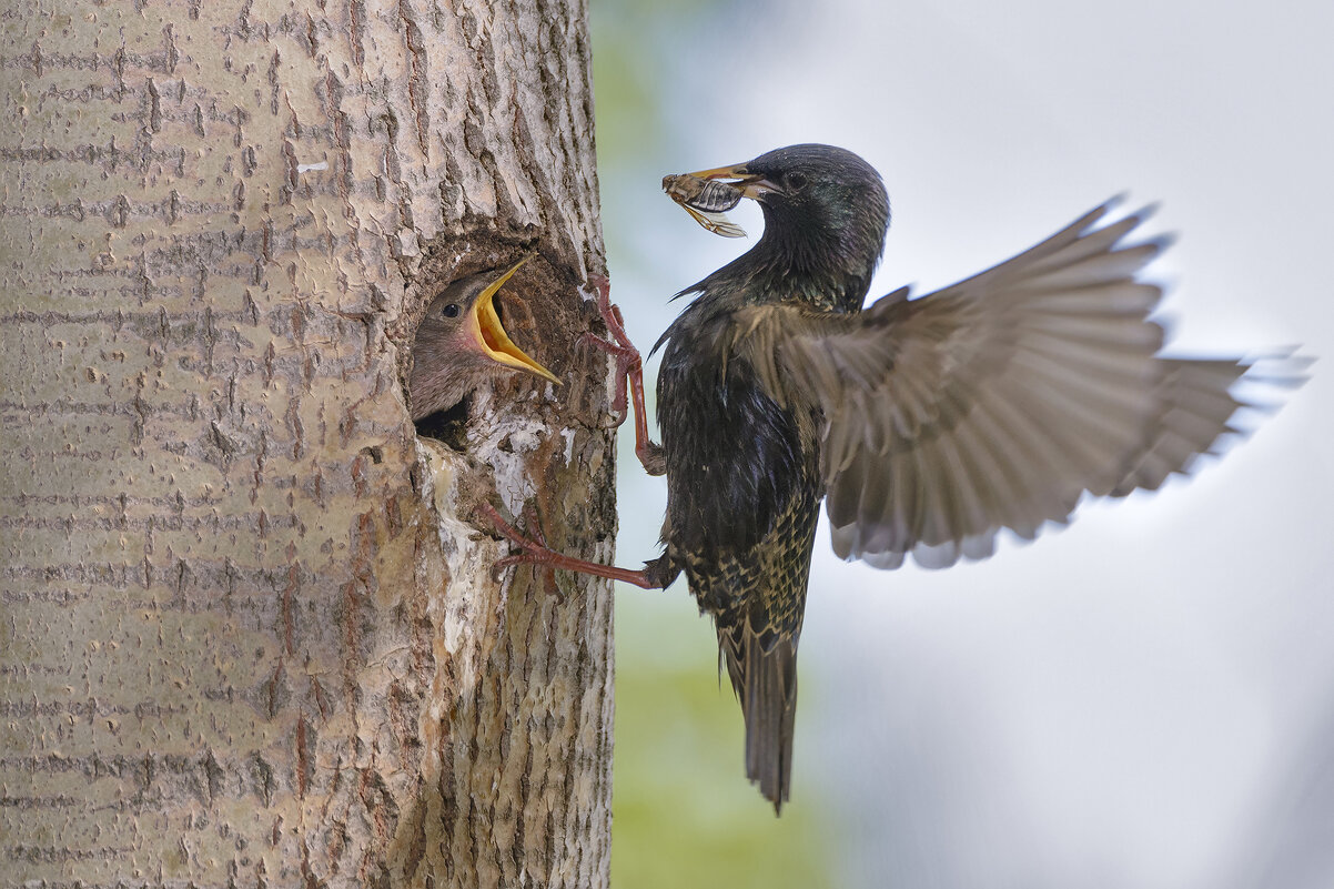
[(719, 650), (746, 718), (746, 774), (774, 804), (787, 802), (796, 717), (796, 637), (763, 639), (748, 621), (718, 627)]

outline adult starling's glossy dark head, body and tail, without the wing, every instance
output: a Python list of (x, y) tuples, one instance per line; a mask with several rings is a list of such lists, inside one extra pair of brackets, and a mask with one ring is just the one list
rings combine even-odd
[(684, 291), (694, 302), (658, 344), (667, 547), (656, 566), (684, 570), (714, 617), (746, 715), (747, 774), (778, 808), (788, 796), (796, 643), (824, 495), (823, 419), (818, 404), (766, 386), (748, 319), (858, 311), (890, 207), (871, 167), (826, 145), (771, 152), (747, 170), (772, 182), (776, 199), (760, 202), (764, 236)]

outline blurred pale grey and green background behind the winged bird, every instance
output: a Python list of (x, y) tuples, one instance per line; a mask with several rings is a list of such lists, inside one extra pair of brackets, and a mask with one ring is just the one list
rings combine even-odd
[[(750, 242), (659, 180), (796, 141), (894, 204), (872, 299), (971, 275), (1106, 198), (1179, 242), (1171, 352), (1325, 356), (1158, 495), (927, 573), (816, 542), (792, 801), (747, 784), (740, 709), (678, 582), (618, 589), (612, 882), (1334, 885), (1334, 7), (1189, 0), (592, 4), (612, 292), (647, 351)], [(747, 202), (748, 203), (748, 202)], [(651, 367), (651, 371), (654, 368)], [(628, 428), (628, 427), (627, 427)], [(618, 563), (660, 479), (622, 435)]]

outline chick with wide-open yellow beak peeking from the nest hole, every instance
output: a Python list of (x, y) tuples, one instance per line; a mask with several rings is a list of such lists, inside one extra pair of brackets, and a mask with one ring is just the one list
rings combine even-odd
[(468, 275), (431, 300), (412, 344), (408, 398), (412, 419), (454, 407), (487, 379), (514, 371), (560, 380), (514, 344), (500, 324), (495, 295), (527, 262), (508, 271)]

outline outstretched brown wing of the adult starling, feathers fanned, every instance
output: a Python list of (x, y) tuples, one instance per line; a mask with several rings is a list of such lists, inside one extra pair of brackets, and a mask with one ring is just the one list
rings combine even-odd
[(784, 404), (824, 415), (834, 550), (876, 567), (984, 558), (1085, 494), (1157, 489), (1230, 431), (1241, 360), (1159, 358), (1137, 274), (1162, 240), (1105, 204), (1037, 247), (859, 315), (743, 310), (736, 350)]

